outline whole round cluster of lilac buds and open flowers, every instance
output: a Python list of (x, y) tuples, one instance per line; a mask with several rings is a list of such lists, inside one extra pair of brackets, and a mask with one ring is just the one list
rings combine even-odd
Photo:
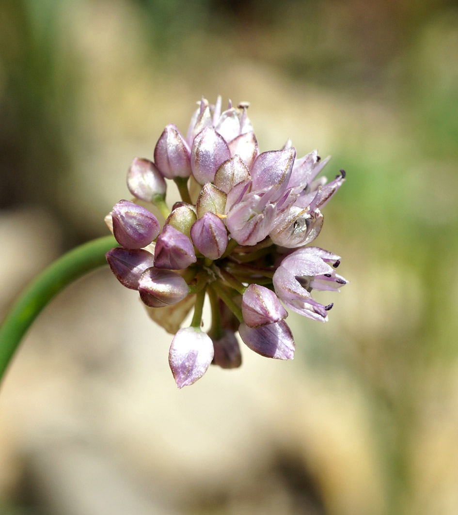
[[(133, 201), (121, 200), (106, 221), (116, 241), (107, 261), (116, 278), (138, 290), (152, 319), (175, 334), (169, 365), (179, 388), (193, 384), (211, 363), (238, 367), (235, 332), (253, 351), (292, 359), (287, 311), (325, 322), (332, 304), (313, 289), (338, 291), (347, 281), (335, 272), (340, 256), (307, 246), (323, 226), (321, 209), (342, 185), (316, 179), (328, 159), (316, 150), (296, 159), (288, 140), (259, 153), (242, 103), (222, 112), (202, 99), (186, 138), (167, 125), (154, 162), (134, 159), (127, 175)], [(165, 179), (182, 201), (170, 211)], [(140, 202), (142, 201), (142, 202)], [(143, 207), (155, 204), (165, 218)], [(201, 330), (206, 295), (212, 322)], [(194, 307), (191, 326), (180, 324)]]

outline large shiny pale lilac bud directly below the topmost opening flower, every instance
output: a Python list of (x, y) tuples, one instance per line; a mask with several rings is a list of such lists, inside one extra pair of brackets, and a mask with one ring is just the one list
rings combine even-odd
[(191, 151), (191, 168), (197, 182), (213, 182), (219, 165), (231, 157), (223, 136), (206, 127), (196, 136)]

